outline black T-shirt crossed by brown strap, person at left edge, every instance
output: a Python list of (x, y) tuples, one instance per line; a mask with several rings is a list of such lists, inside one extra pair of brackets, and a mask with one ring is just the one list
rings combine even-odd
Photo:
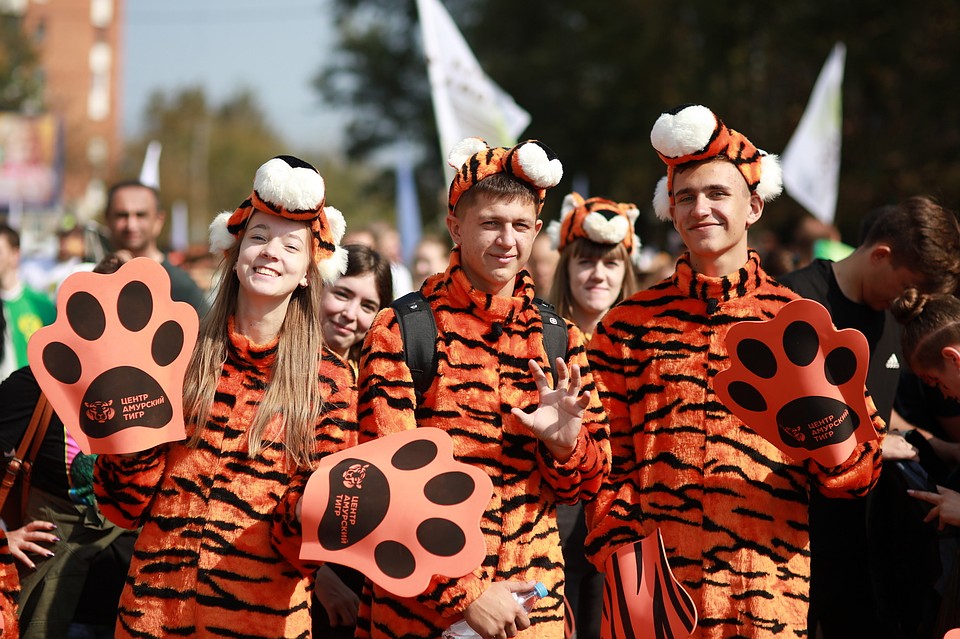
[[(15, 451), (20, 445), (39, 398), (40, 386), (29, 366), (15, 370), (0, 384), (0, 406), (3, 407), (0, 410), (0, 450), (4, 454)], [(33, 463), (31, 486), (70, 499), (67, 456), (63, 422), (53, 413)]]

